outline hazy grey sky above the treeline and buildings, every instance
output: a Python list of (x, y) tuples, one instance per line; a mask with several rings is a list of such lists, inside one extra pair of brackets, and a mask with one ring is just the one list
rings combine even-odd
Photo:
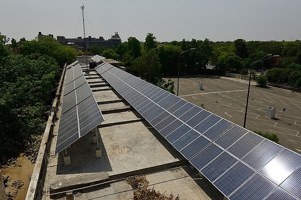
[(301, 0), (0, 0), (0, 32), (19, 41), (43, 34), (122, 41), (301, 39)]

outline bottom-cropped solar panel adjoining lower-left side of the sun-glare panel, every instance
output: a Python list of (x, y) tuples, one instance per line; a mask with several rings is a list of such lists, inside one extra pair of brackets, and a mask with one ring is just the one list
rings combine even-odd
[(255, 173), (241, 187), (230, 195), (231, 200), (261, 200), (277, 185), (262, 175)]

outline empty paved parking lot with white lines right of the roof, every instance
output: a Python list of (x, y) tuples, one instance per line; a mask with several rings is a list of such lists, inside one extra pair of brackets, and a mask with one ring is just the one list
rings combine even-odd
[[(177, 78), (175, 82), (177, 94)], [(165, 78), (168, 80), (168, 78)], [(204, 84), (203, 90), (198, 84)], [(221, 76), (181, 76), (179, 96), (240, 126), (243, 126), (248, 80)], [(268, 106), (276, 109), (275, 118), (266, 117)], [(283, 108), (285, 111), (283, 113)], [(283, 121), (282, 121), (283, 117)], [(246, 128), (276, 133), (279, 143), (301, 152), (301, 93), (251, 82)]]

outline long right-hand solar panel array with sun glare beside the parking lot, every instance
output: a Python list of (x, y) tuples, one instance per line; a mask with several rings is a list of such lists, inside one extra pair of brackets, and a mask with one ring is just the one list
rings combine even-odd
[(106, 63), (98, 73), (229, 199), (300, 199), (301, 155)]

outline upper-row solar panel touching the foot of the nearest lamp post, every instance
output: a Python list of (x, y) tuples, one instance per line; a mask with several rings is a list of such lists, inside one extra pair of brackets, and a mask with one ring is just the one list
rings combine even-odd
[(214, 142), (223, 147), (224, 149), (228, 148), (231, 144), (233, 144), (237, 139), (239, 139), (242, 135), (248, 132), (247, 129), (240, 127), (238, 125), (234, 125), (232, 128), (227, 130), (224, 134), (222, 134), (219, 138), (217, 138)]

